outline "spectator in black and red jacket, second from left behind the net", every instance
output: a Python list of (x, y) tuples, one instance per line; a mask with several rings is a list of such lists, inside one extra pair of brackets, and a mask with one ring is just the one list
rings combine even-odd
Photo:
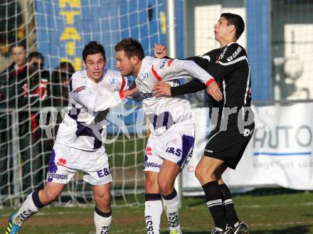
[[(47, 105), (49, 73), (43, 69), (45, 59), (39, 52), (28, 55), (28, 63), (23, 70), (21, 97), (18, 101), (21, 112), (18, 115), (23, 191), (41, 188), (45, 179), (43, 162), (45, 160), (46, 138), (39, 127), (39, 110)], [(47, 153), (48, 154), (48, 153)]]

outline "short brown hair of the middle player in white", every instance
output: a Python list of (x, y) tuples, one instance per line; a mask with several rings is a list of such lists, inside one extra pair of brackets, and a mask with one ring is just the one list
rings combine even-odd
[(125, 38), (117, 43), (115, 46), (115, 52), (120, 50), (124, 50), (125, 55), (127, 55), (128, 58), (137, 56), (139, 60), (144, 59), (144, 49), (142, 48), (142, 44), (134, 38)]

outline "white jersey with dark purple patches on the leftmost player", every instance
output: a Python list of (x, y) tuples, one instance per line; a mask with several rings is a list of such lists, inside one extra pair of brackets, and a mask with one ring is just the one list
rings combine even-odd
[(105, 69), (98, 83), (86, 70), (73, 74), (69, 84), (68, 113), (60, 124), (55, 143), (84, 151), (96, 151), (106, 137), (105, 121), (109, 108), (124, 100), (127, 80), (120, 72)]

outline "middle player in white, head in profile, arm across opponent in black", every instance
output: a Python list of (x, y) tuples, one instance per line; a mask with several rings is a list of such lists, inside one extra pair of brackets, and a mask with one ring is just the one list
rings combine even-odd
[(115, 46), (117, 68), (122, 75), (134, 75), (148, 115), (151, 134), (144, 156), (145, 221), (148, 234), (159, 233), (162, 213), (161, 196), (169, 221), (170, 233), (181, 233), (179, 201), (174, 181), (188, 162), (193, 149), (194, 125), (191, 107), (183, 97), (154, 97), (152, 87), (159, 80), (179, 85), (181, 76), (193, 76), (208, 86), (220, 100), (221, 91), (215, 80), (189, 60), (168, 60), (144, 57), (139, 41), (126, 38)]

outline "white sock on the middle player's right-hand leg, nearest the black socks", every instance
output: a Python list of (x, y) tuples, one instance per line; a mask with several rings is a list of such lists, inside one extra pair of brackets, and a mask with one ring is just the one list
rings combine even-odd
[(174, 198), (171, 200), (164, 198), (163, 202), (167, 220), (169, 221), (169, 230), (181, 230), (181, 225), (179, 224), (179, 196), (176, 193)]

